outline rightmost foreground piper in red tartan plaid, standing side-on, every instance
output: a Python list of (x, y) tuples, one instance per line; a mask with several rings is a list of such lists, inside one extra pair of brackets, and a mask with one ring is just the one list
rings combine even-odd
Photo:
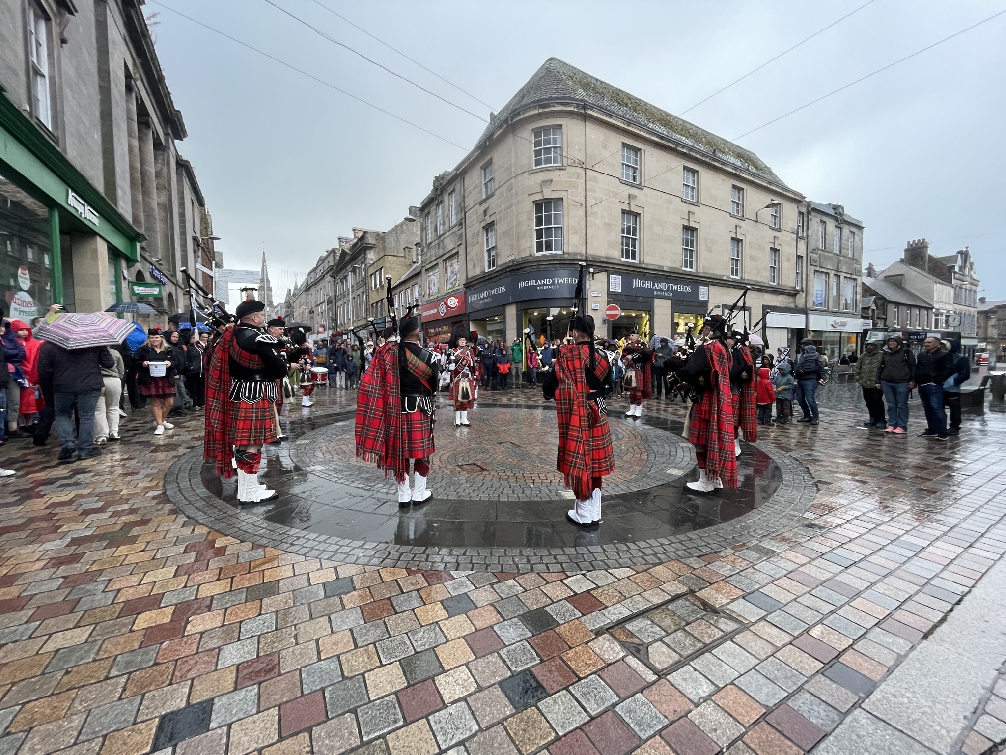
[(688, 440), (695, 446), (698, 479), (692, 490), (709, 492), (724, 485), (737, 486), (737, 458), (733, 437), (733, 394), (730, 390), (731, 355), (726, 345), (726, 320), (705, 318), (701, 338), (678, 375), (693, 388), (688, 417)]

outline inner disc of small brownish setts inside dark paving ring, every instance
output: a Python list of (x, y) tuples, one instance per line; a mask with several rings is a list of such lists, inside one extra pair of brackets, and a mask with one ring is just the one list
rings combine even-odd
[[(440, 416), (454, 414), (441, 411)], [(430, 489), (438, 498), (463, 500), (558, 500), (568, 497), (555, 471), (558, 430), (555, 413), (478, 409), (470, 428), (438, 421)], [(644, 423), (610, 423), (615, 472), (605, 478), (607, 495), (645, 490), (670, 482), (695, 463), (690, 443)], [(356, 458), (354, 425), (346, 420), (299, 438), (290, 452), (302, 469), (323, 479), (387, 494), (393, 480), (374, 464)]]

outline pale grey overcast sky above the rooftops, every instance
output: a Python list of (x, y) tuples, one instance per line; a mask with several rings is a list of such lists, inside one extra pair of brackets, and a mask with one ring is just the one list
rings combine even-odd
[[(488, 118), (550, 55), (671, 113), (859, 8), (807, 2), (272, 0), (327, 35)], [(446, 141), (165, 9), (174, 8)], [(444, 79), (444, 83), (325, 9)], [(362, 60), (266, 0), (147, 2), (218, 246), (274, 286), (353, 226), (386, 230), (485, 123)], [(1002, 0), (874, 0), (683, 117), (727, 139), (1006, 9)], [(790, 186), (866, 224), (864, 265), (909, 239), (969, 246), (981, 296), (1006, 299), (1006, 15), (738, 140)], [(283, 291), (276, 290), (277, 298)]]

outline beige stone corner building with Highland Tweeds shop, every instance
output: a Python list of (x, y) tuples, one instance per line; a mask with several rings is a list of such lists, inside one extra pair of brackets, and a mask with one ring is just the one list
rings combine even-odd
[[(459, 323), (508, 342), (544, 332), (585, 262), (601, 335), (679, 335), (749, 286), (748, 323), (765, 317), (770, 345), (818, 339), (828, 327), (808, 322), (808, 213), (848, 230), (851, 260), (862, 250), (862, 223), (834, 207), (808, 202), (750, 151), (552, 57), (422, 202), (425, 335)], [(820, 309), (848, 325), (858, 264), (832, 268), (838, 295)], [(620, 313), (606, 320), (611, 304)]]

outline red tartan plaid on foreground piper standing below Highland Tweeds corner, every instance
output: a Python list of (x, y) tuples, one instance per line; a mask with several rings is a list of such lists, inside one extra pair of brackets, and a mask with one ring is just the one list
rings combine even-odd
[[(595, 349), (594, 373), (604, 382), (611, 369), (604, 352)], [(592, 479), (615, 469), (608, 419), (598, 403), (586, 401), (586, 366), (591, 348), (583, 343), (565, 344), (555, 358), (555, 415), (558, 420), (559, 448), (556, 469), (577, 500), (585, 500), (593, 490)]]

